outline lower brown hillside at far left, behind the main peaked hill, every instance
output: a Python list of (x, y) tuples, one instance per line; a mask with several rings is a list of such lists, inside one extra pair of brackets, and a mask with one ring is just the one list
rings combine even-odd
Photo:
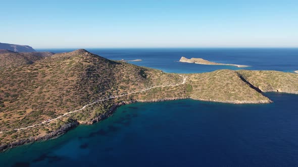
[(41, 60), (52, 55), (54, 55), (54, 53), (51, 52), (18, 53), (10, 50), (0, 50), (0, 70), (32, 64), (37, 60)]

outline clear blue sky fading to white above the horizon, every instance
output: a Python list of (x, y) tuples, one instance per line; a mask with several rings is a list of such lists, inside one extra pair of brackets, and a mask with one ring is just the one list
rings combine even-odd
[(0, 42), (33, 48), (298, 47), (298, 1), (5, 1)]

